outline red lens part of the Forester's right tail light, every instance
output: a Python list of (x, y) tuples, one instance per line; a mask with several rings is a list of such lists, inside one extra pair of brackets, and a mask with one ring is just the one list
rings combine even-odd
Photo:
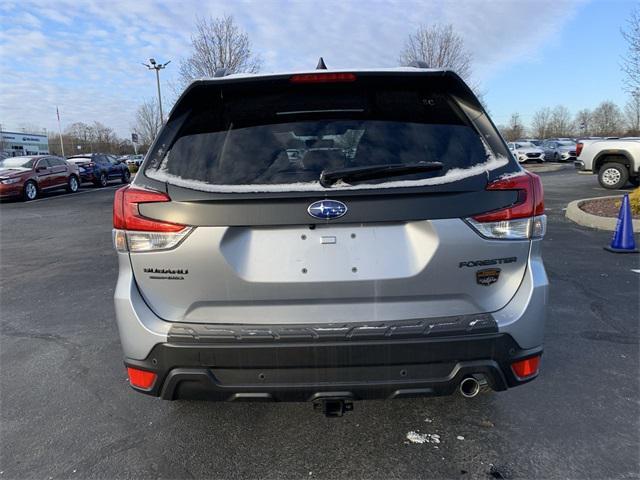
[(476, 222), (499, 222), (544, 214), (542, 182), (535, 173), (526, 172), (524, 175), (496, 180), (489, 184), (487, 190), (517, 190), (518, 200), (510, 207), (476, 215), (473, 217)]

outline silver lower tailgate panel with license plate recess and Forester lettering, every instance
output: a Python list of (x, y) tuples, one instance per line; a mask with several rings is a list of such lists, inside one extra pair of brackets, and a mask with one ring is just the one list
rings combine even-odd
[[(529, 249), (484, 239), (460, 219), (198, 227), (177, 248), (131, 254), (131, 263), (146, 303), (167, 321), (363, 322), (499, 310), (524, 278)], [(506, 263), (461, 266), (490, 260)], [(499, 279), (482, 285), (477, 271), (489, 267)], [(157, 275), (164, 270), (188, 273)]]

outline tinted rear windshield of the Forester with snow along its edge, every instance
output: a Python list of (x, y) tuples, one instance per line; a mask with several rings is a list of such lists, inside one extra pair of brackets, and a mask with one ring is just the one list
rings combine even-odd
[[(430, 162), (442, 167), (319, 183), (323, 171)], [(506, 163), (446, 95), (329, 90), (306, 97), (227, 96), (188, 118), (162, 161), (145, 174), (208, 191), (324, 191), (446, 183)]]

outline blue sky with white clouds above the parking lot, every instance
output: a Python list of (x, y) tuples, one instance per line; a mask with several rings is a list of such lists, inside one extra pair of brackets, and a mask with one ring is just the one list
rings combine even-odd
[[(162, 88), (174, 96), (178, 64), (197, 16), (233, 15), (264, 72), (315, 67), (391, 67), (420, 24), (450, 23), (473, 54), (496, 123), (542, 106), (625, 102), (621, 0), (3, 0), (0, 124), (57, 129), (98, 120), (128, 136), (137, 105), (156, 95), (149, 57), (172, 63)], [(170, 101), (169, 101), (170, 103)], [(167, 105), (168, 106), (168, 105)]]

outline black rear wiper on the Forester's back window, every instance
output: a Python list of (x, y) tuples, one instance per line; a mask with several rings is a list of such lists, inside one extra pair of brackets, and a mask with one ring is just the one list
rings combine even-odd
[(330, 187), (338, 180), (347, 183), (378, 178), (399, 177), (411, 173), (436, 172), (442, 170), (441, 162), (389, 163), (386, 165), (370, 165), (366, 167), (337, 168), (323, 170), (320, 174), (320, 185)]

